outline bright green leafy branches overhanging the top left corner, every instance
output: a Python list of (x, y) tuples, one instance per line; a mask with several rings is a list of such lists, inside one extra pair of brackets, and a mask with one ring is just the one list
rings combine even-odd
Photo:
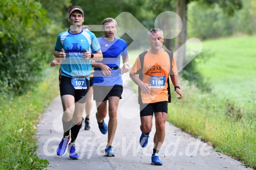
[(42, 28), (49, 22), (47, 12), (39, 2), (34, 0), (5, 0), (0, 3), (0, 38), (5, 43), (8, 38), (17, 39), (12, 29), (13, 25), (19, 25), (19, 29), (29, 33)]

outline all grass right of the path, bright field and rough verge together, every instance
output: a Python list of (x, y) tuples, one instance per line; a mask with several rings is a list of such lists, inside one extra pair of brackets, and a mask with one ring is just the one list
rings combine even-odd
[(184, 99), (169, 104), (168, 120), (187, 133), (202, 136), (215, 149), (256, 168), (256, 36), (208, 40), (203, 50), (214, 53), (200, 63), (212, 92), (199, 91), (181, 80)]

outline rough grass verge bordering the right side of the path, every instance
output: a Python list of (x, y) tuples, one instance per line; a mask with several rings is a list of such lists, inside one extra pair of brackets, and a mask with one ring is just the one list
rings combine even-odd
[(255, 104), (248, 105), (241, 115), (241, 108), (219, 100), (214, 94), (202, 93), (186, 81), (180, 85), (184, 99), (178, 101), (174, 97), (177, 94), (172, 94), (168, 121), (191, 135), (202, 136), (216, 151), (256, 168)]

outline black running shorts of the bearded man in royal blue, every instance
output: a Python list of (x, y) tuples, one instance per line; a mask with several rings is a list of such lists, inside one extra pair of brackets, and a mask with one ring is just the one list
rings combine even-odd
[(122, 99), (123, 86), (114, 85), (114, 86), (103, 86), (103, 85), (94, 85), (94, 100), (96, 102), (103, 102), (108, 100), (108, 97), (117, 96)]

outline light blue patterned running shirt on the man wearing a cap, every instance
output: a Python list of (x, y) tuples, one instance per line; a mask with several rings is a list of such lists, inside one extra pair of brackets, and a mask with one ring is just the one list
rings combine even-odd
[[(83, 58), (87, 49), (90, 53), (101, 50), (101, 46), (94, 33), (82, 29), (80, 33), (72, 34), (69, 30), (58, 35), (55, 50), (64, 49), (65, 60), (61, 61), (61, 75), (67, 77), (85, 77), (90, 75), (91, 60)], [(90, 77), (87, 77), (90, 80)]]

